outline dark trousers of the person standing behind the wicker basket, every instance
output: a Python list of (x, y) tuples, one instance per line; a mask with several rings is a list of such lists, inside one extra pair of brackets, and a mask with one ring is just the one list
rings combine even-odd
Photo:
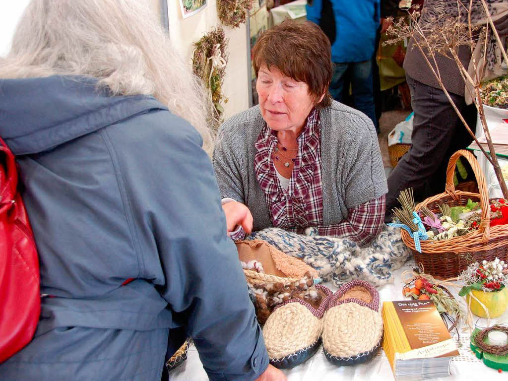
[[(412, 187), (415, 201), (444, 191), (450, 156), (466, 148), (472, 137), (441, 89), (427, 86), (406, 76), (415, 112), (411, 147), (388, 178), (387, 210), (398, 206), (401, 190)], [(467, 106), (464, 97), (450, 93), (471, 130), (475, 130), (477, 111)]]

